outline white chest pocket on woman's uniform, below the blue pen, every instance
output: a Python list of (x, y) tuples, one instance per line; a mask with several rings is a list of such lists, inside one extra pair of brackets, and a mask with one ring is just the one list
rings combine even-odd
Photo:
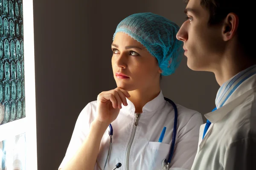
[(142, 170), (161, 170), (164, 159), (168, 159), (170, 144), (161, 142), (148, 142), (146, 147)]

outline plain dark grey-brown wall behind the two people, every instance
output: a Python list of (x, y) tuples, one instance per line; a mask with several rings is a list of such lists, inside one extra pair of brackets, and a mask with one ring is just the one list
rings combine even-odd
[[(82, 108), (101, 91), (116, 87), (111, 42), (117, 24), (130, 14), (153, 12), (185, 20), (182, 0), (34, 0), (38, 170), (57, 170)], [(166, 97), (207, 113), (214, 108), (214, 75), (195, 72), (184, 57), (164, 77)]]

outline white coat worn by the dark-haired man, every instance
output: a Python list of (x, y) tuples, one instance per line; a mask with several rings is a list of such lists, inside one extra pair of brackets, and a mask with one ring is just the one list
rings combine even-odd
[(256, 74), (205, 117), (212, 124), (203, 140), (205, 124), (200, 128), (192, 170), (256, 170)]

